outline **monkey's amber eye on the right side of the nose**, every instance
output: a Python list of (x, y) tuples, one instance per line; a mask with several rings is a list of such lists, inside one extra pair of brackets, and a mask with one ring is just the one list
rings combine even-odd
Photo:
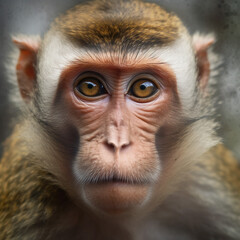
[(140, 79), (133, 83), (128, 92), (137, 98), (148, 98), (157, 92), (158, 88), (155, 83), (148, 79)]

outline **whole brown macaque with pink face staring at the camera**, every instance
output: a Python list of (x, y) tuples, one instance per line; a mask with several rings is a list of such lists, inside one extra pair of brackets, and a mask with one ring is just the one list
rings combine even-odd
[(214, 41), (138, 0), (82, 3), (42, 39), (13, 37), (0, 239), (240, 239)]

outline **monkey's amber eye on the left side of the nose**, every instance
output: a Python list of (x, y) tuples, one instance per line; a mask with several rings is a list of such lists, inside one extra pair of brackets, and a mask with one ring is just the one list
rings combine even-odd
[(85, 77), (75, 86), (77, 92), (86, 97), (97, 97), (106, 94), (103, 84), (95, 77)]

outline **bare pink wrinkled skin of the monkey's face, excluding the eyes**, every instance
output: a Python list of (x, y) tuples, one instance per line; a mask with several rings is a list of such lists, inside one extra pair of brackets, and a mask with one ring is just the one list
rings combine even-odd
[[(74, 81), (88, 73), (100, 76), (107, 94), (94, 98), (76, 92)], [(158, 90), (149, 98), (136, 99), (129, 94), (129, 87), (142, 75)], [(155, 134), (168, 124), (172, 103), (178, 101), (170, 67), (152, 59), (137, 64), (87, 59), (65, 69), (58, 90), (68, 124), (80, 135), (74, 174), (81, 183), (82, 198), (108, 213), (141, 206), (160, 177)]]

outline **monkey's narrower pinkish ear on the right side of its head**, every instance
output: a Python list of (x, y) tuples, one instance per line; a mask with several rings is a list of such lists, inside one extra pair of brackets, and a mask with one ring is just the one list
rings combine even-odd
[(215, 37), (212, 34), (200, 35), (199, 33), (196, 33), (193, 35), (193, 47), (198, 66), (198, 81), (201, 89), (204, 89), (207, 86), (210, 77), (208, 49), (214, 42)]

